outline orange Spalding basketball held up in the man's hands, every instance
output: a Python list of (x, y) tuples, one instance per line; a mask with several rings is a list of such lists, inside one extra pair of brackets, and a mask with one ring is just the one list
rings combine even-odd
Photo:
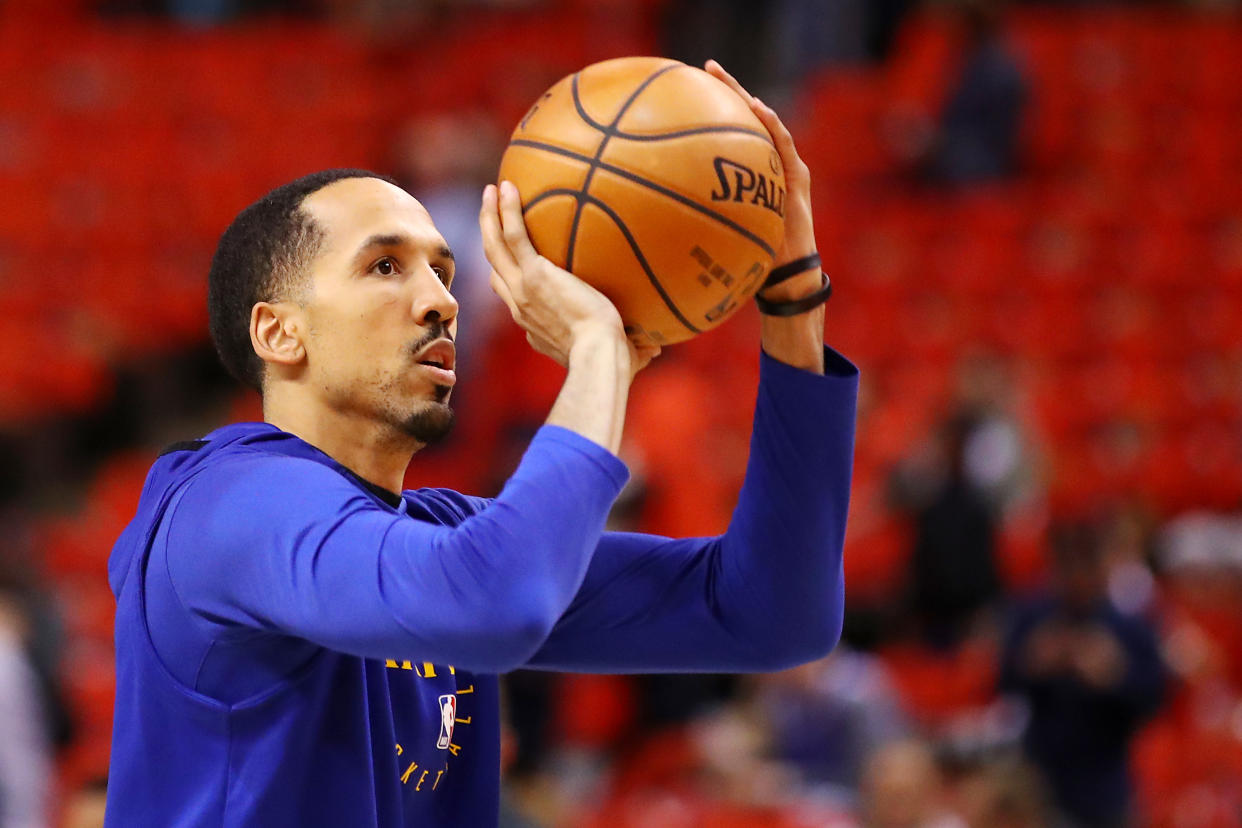
[(768, 130), (724, 83), (664, 58), (595, 63), (548, 89), (501, 179), (522, 194), (535, 248), (661, 345), (754, 295), (785, 231)]

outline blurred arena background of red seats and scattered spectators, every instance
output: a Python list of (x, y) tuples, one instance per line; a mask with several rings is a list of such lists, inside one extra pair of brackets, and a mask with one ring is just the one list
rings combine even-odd
[[(508, 828), (1242, 826), (1236, 2), (0, 0), (0, 827), (101, 824), (104, 565), (159, 448), (257, 398), (215, 242), (364, 166), (457, 251), (455, 434), (494, 493), (560, 374), (487, 290), (477, 200), (554, 81), (722, 60), (815, 174), (862, 369), (847, 618), (761, 677), (508, 677)], [(753, 310), (640, 376), (617, 528), (713, 534)]]

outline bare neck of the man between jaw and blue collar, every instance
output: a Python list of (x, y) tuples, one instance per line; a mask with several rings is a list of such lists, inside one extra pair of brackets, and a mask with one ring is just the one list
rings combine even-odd
[(332, 408), (291, 396), (279, 387), (263, 394), (263, 421), (304, 439), (358, 477), (400, 493), (410, 458), (422, 444), (358, 411)]

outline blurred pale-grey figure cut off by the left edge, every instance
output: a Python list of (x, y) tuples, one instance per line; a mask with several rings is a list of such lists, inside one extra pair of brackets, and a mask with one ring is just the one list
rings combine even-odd
[(30, 632), (21, 592), (0, 575), (0, 828), (50, 824), (52, 746)]

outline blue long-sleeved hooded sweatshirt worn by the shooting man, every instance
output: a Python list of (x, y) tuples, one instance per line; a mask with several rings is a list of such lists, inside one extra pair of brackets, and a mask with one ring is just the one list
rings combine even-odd
[(494, 826), (498, 674), (781, 669), (841, 628), (857, 371), (761, 358), (728, 531), (605, 533), (545, 426), (493, 500), (400, 495), (266, 423), (170, 447), (117, 541), (107, 824)]

